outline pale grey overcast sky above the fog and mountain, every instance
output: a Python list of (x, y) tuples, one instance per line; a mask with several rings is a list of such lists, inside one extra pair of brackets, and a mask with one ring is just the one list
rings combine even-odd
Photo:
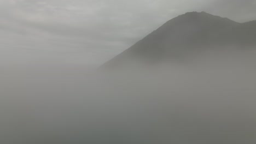
[(188, 11), (246, 22), (256, 0), (0, 0), (0, 64), (99, 65)]

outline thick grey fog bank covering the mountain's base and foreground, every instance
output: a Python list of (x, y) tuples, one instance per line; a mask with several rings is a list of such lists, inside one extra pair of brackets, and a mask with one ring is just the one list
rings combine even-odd
[(121, 70), (4, 66), (1, 143), (255, 143), (256, 51)]

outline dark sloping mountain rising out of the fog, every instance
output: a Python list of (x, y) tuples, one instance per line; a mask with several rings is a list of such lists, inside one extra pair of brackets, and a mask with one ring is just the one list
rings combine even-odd
[(104, 67), (126, 63), (154, 64), (166, 59), (183, 59), (214, 47), (255, 46), (256, 21), (238, 23), (205, 12), (190, 12), (167, 21), (120, 53)]

